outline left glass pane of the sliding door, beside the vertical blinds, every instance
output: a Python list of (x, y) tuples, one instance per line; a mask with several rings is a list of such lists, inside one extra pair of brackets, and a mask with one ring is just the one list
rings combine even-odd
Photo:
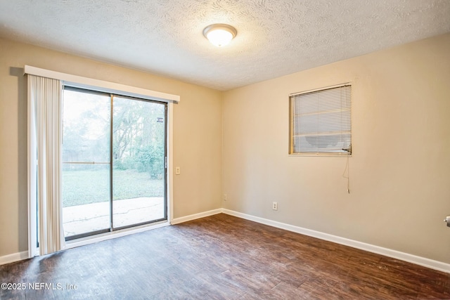
[(63, 227), (66, 240), (110, 229), (110, 96), (65, 89)]

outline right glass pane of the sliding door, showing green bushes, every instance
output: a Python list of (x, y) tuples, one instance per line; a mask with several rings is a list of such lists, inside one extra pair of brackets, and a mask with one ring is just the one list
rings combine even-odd
[(113, 98), (113, 228), (167, 219), (165, 107)]

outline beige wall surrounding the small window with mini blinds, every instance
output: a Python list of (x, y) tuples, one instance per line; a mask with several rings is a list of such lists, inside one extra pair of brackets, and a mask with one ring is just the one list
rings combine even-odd
[[(450, 263), (449, 53), (446, 34), (225, 92), (223, 207)], [(346, 158), (288, 156), (288, 95), (347, 81), (350, 194)]]

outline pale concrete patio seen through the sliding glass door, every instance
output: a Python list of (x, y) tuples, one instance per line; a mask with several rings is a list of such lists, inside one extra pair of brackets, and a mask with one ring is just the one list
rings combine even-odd
[[(140, 197), (113, 202), (114, 227), (164, 218), (164, 197)], [(72, 236), (110, 227), (110, 202), (63, 208), (64, 235)]]

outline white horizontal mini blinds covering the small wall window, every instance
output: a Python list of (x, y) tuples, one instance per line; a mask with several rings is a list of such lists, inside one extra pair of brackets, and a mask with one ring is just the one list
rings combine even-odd
[(352, 86), (290, 95), (290, 154), (352, 154)]

